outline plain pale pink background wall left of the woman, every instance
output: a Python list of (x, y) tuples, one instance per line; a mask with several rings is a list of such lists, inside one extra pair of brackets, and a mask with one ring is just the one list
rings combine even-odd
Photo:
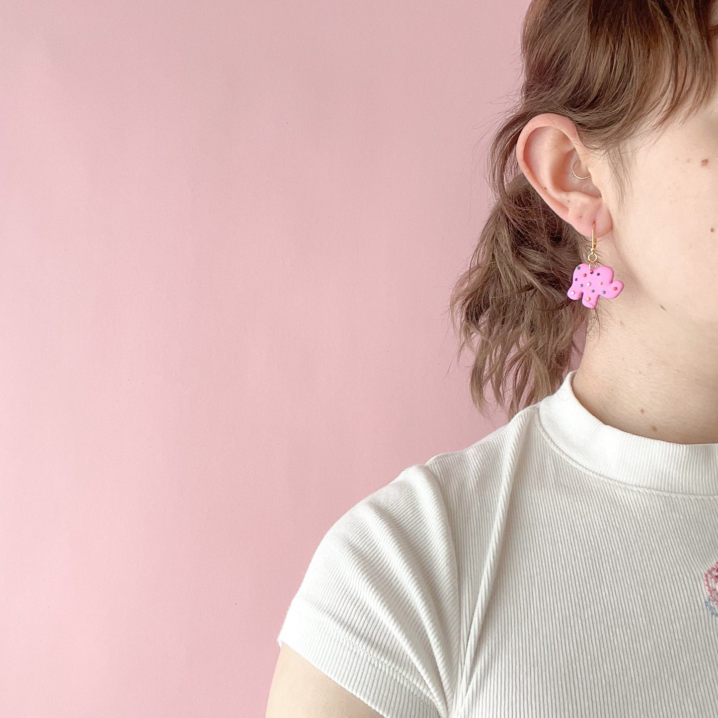
[(0, 716), (264, 716), (327, 528), (493, 430), (446, 310), (527, 4), (2, 1)]

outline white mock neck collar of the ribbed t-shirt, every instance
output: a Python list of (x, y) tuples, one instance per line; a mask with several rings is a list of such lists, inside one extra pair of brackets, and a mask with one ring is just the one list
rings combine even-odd
[(718, 443), (673, 444), (603, 424), (574, 393), (576, 372), (538, 402), (538, 420), (564, 454), (589, 471), (631, 486), (718, 496)]

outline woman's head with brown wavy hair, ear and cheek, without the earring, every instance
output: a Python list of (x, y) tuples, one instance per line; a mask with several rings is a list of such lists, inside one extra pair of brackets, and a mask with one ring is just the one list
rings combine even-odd
[[(521, 101), (488, 154), (495, 204), (450, 302), (480, 411), (486, 386), (502, 405), (513, 394), (510, 417), (556, 391), (604, 320), (637, 342), (646, 327), (666, 341), (691, 327), (717, 348), (714, 12), (711, 0), (531, 2)], [(595, 264), (625, 289), (587, 309), (567, 289), (594, 222)]]

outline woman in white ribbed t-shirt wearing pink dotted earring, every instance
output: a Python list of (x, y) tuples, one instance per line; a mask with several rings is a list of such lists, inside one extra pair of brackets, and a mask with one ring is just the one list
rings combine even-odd
[(451, 299), (508, 424), (330, 528), (268, 718), (715, 716), (716, 24), (708, 0), (531, 3)]

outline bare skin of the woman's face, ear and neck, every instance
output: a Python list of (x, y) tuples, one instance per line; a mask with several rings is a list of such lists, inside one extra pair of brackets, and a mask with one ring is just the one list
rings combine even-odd
[(516, 157), (546, 204), (589, 241), (595, 221), (601, 262), (625, 284), (599, 299), (601, 331), (587, 332), (574, 376), (581, 404), (630, 434), (718, 442), (718, 93), (636, 143), (623, 208), (607, 162), (564, 116), (531, 118)]

